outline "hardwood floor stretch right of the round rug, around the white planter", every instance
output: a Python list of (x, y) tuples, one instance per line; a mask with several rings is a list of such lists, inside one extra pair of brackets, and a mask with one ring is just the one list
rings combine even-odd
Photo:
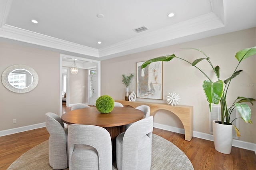
[(178, 134), (154, 128), (154, 134), (161, 136), (182, 150), (190, 159), (195, 170), (255, 170), (254, 151), (232, 146), (230, 154), (222, 154), (214, 149), (214, 142), (193, 137), (184, 140), (184, 134)]

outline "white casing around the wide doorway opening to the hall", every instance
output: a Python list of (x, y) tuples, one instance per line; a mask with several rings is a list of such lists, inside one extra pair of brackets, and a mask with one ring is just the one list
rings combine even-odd
[[(60, 79), (60, 87), (59, 87), (59, 96), (60, 96), (60, 102), (59, 102), (59, 105), (60, 105), (60, 117), (62, 115), (62, 58), (63, 57), (68, 57), (68, 58), (74, 58), (74, 59), (78, 59), (78, 60), (82, 60), (82, 61), (91, 61), (91, 62), (94, 62), (97, 64), (96, 68), (97, 68), (97, 81), (98, 81), (98, 93), (97, 93), (97, 97), (100, 97), (100, 61), (98, 60), (93, 60), (93, 59), (86, 59), (86, 58), (82, 58), (82, 57), (75, 57), (75, 56), (72, 56), (72, 55), (66, 55), (66, 54), (60, 54), (60, 69), (59, 69), (59, 72), (60, 72), (60, 75), (59, 75), (59, 79)], [(71, 66), (71, 65), (70, 65)], [(68, 71), (68, 74), (69, 74), (69, 71)], [(69, 88), (69, 86), (67, 87)], [(68, 100), (68, 99), (67, 99)]]

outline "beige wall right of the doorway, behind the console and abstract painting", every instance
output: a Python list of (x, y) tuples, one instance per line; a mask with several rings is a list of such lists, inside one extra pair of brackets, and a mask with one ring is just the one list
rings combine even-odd
[[(173, 53), (191, 62), (204, 57), (198, 51), (181, 49), (182, 47), (194, 47), (204, 51), (210, 57), (213, 65), (220, 66), (220, 78), (226, 79), (233, 73), (238, 63), (234, 57), (235, 53), (240, 49), (253, 46), (256, 46), (256, 28), (104, 60), (101, 67), (101, 95), (110, 95), (114, 100), (124, 99), (125, 86), (122, 84), (122, 74), (134, 73), (136, 75), (137, 62)], [(253, 56), (240, 64), (238, 69), (244, 69), (244, 71), (232, 80), (227, 99), (229, 105), (238, 96), (256, 98), (255, 63), (256, 56)], [(211, 71), (206, 61), (198, 64), (198, 67), (206, 73)], [(163, 63), (163, 100), (139, 98), (137, 100), (164, 103), (168, 92), (175, 91), (181, 97), (180, 105), (194, 107), (194, 131), (208, 133), (208, 102), (202, 90), (202, 82), (205, 79), (206, 77), (190, 64), (180, 59), (173, 59)], [(131, 91), (136, 93), (136, 76), (130, 85)], [(256, 103), (254, 102), (254, 104)], [(256, 129), (256, 105), (251, 106), (251, 109), (254, 124), (250, 125), (242, 120), (239, 121), (242, 135), (240, 140), (256, 143), (254, 132)], [(154, 117), (154, 123), (183, 128), (180, 120), (168, 111), (158, 111)]]

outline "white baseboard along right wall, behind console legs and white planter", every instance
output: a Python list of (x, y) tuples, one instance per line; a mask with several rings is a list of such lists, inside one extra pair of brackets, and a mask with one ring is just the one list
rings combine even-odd
[[(154, 123), (154, 127), (155, 128), (160, 128), (160, 129), (163, 129), (163, 130), (168, 130), (168, 131), (171, 131), (171, 132), (185, 134), (185, 130), (182, 129), (182, 128), (171, 127), (171, 126), (162, 125), (162, 124), (159, 124), (159, 123)], [(193, 131), (193, 137), (213, 141), (213, 135), (212, 134)], [(233, 139), (232, 146), (247, 149), (247, 150), (252, 150), (256, 154), (256, 144), (255, 143), (244, 142), (244, 141)]]

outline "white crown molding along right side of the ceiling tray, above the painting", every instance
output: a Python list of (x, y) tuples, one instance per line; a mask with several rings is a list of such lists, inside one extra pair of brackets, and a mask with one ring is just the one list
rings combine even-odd
[(130, 40), (101, 48), (99, 49), (99, 57), (167, 42), (221, 27), (224, 27), (222, 20), (220, 20), (215, 13), (211, 12), (148, 34), (143, 34)]

